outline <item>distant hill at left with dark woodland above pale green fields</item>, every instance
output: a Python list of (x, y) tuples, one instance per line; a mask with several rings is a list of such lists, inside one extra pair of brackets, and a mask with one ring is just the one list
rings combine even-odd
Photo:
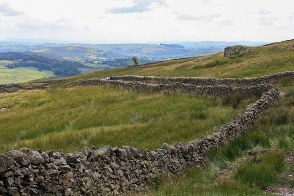
[[(75, 61), (44, 53), (0, 53), (0, 83), (20, 83), (43, 77), (56, 77), (82, 73), (90, 68)], [(92, 70), (93, 71), (93, 70)]]

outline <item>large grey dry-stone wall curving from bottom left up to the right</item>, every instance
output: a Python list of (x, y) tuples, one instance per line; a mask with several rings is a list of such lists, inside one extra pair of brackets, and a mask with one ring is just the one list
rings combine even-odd
[[(79, 85), (88, 85), (93, 81), (102, 80), (81, 81)], [(219, 148), (245, 134), (257, 118), (279, 98), (276, 86), (263, 87), (268, 89), (263, 90), (266, 92), (261, 98), (249, 104), (245, 112), (234, 121), (220, 126), (212, 135), (187, 144), (163, 144), (161, 148), (154, 150), (106, 145), (92, 149), (83, 147), (79, 152), (73, 153), (28, 148), (2, 153), (0, 195), (120, 195), (127, 190), (146, 189), (149, 179), (178, 174), (182, 169), (191, 166), (200, 167), (210, 148)]]

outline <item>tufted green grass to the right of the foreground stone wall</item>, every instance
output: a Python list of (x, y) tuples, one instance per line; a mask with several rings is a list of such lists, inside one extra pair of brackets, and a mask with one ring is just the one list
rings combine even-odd
[[(140, 196), (275, 196), (265, 192), (265, 187), (293, 189), (289, 175), (294, 173), (294, 165), (287, 163), (285, 156), (294, 153), (294, 81), (287, 89), (288, 94), (262, 115), (250, 132), (213, 151), (203, 168), (187, 170), (173, 179), (154, 180)], [(268, 152), (258, 155), (264, 149)], [(253, 155), (246, 155), (246, 150)], [(224, 168), (231, 172), (221, 172)]]

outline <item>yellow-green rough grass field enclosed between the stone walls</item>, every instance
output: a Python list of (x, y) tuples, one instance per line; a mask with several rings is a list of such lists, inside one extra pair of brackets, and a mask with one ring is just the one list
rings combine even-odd
[(0, 108), (11, 108), (0, 116), (0, 151), (26, 146), (70, 152), (106, 144), (153, 149), (213, 133), (251, 101), (234, 110), (220, 98), (138, 95), (109, 87), (21, 91), (0, 100)]

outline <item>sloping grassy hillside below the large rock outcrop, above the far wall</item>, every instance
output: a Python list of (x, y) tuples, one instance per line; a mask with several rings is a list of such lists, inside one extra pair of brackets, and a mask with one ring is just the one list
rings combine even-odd
[[(247, 47), (256, 49), (245, 57), (223, 57), (223, 52), (203, 57), (169, 60), (162, 63), (103, 70), (74, 76), (76, 78), (106, 77), (107, 75), (154, 75), (244, 78), (294, 70), (294, 41), (270, 46)], [(223, 63), (224, 62), (224, 63)]]

